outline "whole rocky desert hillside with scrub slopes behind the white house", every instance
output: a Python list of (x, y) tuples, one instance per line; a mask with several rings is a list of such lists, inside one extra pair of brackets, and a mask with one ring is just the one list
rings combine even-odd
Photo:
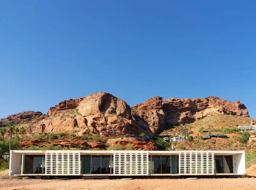
[[(133, 144), (137, 150), (171, 150), (173, 144), (163, 141), (163, 136), (190, 132), (190, 141), (175, 143), (176, 150), (248, 150), (254, 142), (239, 142), (239, 125), (249, 125), (247, 108), (239, 101), (230, 102), (218, 97), (163, 100), (157, 96), (130, 107), (125, 101), (107, 92), (99, 92), (84, 98), (61, 101), (50, 107), (47, 114), (21, 112), (0, 121), (2, 127), (14, 124), (24, 127), (23, 147), (30, 145), (73, 144), (77, 148), (100, 148), (120, 145), (127, 149)], [(101, 137), (100, 132), (114, 129), (123, 135), (151, 136), (142, 139), (117, 139)], [(204, 129), (204, 130), (202, 130)], [(207, 134), (225, 134), (226, 138), (201, 140)], [(232, 134), (233, 133), (233, 134)], [(10, 132), (6, 132), (9, 136)], [(54, 138), (52, 138), (55, 135)], [(29, 139), (35, 140), (29, 140)], [(26, 141), (27, 140), (27, 141)], [(67, 148), (67, 147), (66, 147)]]

